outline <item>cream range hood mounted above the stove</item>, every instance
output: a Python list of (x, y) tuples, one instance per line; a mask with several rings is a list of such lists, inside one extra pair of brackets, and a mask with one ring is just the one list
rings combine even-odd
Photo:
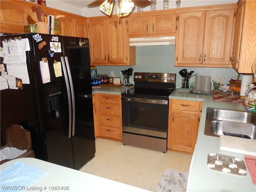
[(130, 46), (175, 45), (175, 36), (129, 38)]

